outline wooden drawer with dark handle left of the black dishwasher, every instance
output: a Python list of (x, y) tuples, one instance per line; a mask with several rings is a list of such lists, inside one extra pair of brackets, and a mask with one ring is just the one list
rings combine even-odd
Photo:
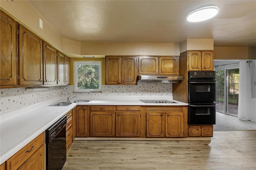
[(18, 169), (40, 146), (44, 145), (44, 132), (6, 161), (6, 170)]

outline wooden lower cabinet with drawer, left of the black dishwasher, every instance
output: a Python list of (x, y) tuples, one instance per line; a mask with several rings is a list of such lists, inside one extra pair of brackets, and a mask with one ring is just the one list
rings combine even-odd
[(6, 161), (6, 170), (44, 170), (44, 132)]

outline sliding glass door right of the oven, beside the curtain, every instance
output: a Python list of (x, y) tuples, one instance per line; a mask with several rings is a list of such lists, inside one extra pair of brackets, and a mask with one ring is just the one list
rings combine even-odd
[(238, 116), (239, 68), (216, 71), (216, 111)]

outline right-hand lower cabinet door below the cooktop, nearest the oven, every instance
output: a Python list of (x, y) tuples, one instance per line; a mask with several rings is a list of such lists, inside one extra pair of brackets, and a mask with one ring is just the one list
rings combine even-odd
[(166, 113), (166, 137), (183, 137), (183, 113)]

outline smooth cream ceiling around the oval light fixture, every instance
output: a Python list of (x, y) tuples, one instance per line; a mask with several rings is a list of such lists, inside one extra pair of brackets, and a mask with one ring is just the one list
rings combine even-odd
[[(28, 0), (63, 38), (78, 42), (180, 43), (213, 38), (215, 47), (256, 46), (256, 0)], [(186, 15), (214, 4), (198, 23)]]

